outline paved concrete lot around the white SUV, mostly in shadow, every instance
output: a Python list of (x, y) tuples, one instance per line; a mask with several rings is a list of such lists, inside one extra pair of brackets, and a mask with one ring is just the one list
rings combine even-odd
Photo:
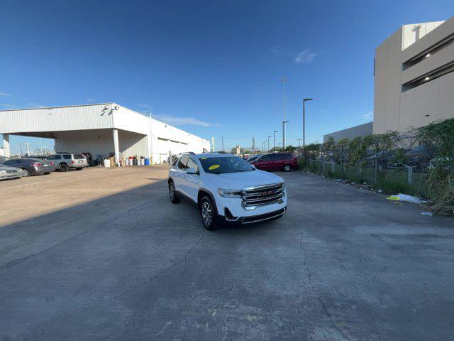
[(0, 340), (451, 340), (454, 220), (301, 172), (205, 231), (165, 167), (0, 182)]

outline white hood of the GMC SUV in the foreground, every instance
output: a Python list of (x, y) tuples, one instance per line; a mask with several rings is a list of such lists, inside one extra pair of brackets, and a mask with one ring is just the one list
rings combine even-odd
[(272, 183), (283, 183), (280, 176), (265, 171), (255, 170), (251, 172), (207, 174), (210, 180), (218, 188), (229, 188), (240, 190), (250, 186), (270, 185)]

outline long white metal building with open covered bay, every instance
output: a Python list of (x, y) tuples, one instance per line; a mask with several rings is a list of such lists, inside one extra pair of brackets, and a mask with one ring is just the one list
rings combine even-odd
[(0, 134), (6, 156), (9, 136), (55, 139), (55, 151), (143, 156), (151, 163), (167, 160), (172, 154), (210, 150), (206, 139), (164, 122), (146, 117), (116, 103), (0, 111)]

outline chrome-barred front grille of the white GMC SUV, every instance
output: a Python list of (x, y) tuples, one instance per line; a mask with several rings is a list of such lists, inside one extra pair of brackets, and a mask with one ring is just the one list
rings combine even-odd
[(284, 183), (246, 188), (242, 192), (242, 205), (246, 210), (284, 202)]

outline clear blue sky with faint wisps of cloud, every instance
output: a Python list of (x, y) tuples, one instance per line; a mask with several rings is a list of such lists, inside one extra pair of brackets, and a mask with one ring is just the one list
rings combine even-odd
[[(372, 120), (375, 47), (431, 1), (4, 1), (0, 109), (117, 102), (226, 148), (287, 144)], [(11, 137), (18, 145), (37, 139)], [(50, 145), (50, 141), (44, 141)]]

